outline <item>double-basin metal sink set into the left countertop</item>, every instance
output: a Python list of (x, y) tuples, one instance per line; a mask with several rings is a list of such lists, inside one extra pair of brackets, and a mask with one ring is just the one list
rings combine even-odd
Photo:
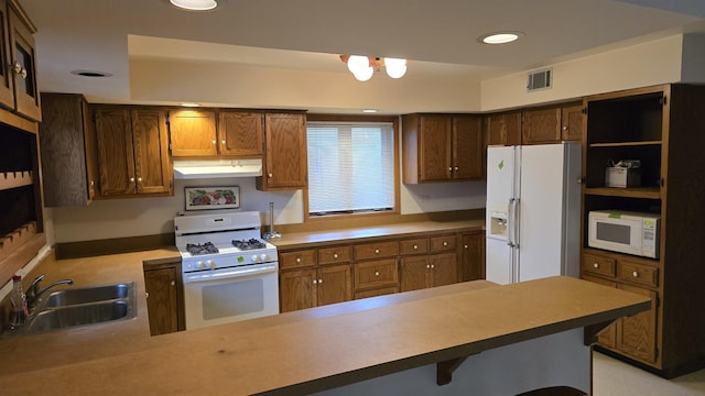
[(54, 292), (36, 305), (22, 328), (12, 334), (32, 334), (126, 320), (137, 317), (134, 282)]

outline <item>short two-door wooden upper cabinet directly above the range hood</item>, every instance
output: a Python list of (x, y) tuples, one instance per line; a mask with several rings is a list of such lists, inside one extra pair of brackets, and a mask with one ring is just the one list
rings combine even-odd
[[(216, 124), (217, 120), (217, 124)], [(220, 110), (173, 110), (169, 113), (175, 157), (261, 156), (264, 114)]]

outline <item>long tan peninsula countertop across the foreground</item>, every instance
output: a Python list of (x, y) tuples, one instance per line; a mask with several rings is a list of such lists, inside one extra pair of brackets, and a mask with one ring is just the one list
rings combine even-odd
[[(0, 375), (0, 389), (307, 394), (607, 323), (650, 304), (644, 296), (568, 277), (506, 286), (468, 282), (133, 341), (111, 331), (94, 333), (106, 345), (123, 348), (83, 361), (51, 356), (52, 366)], [(10, 354), (2, 356), (3, 366), (23, 353), (4, 352)]]

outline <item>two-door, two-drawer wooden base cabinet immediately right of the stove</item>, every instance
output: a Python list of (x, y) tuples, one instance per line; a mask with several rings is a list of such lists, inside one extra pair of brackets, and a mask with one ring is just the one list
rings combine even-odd
[(280, 252), (280, 310), (352, 299), (351, 256), (350, 246)]

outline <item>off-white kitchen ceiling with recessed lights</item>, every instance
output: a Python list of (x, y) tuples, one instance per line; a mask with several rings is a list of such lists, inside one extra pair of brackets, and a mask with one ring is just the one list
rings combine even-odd
[[(123, 103), (132, 102), (130, 58), (347, 74), (338, 54), (360, 54), (405, 57), (416, 74), (481, 80), (705, 31), (703, 0), (218, 0), (209, 12), (176, 10), (169, 0), (20, 2), (37, 28), (42, 91)], [(525, 36), (503, 46), (477, 42), (503, 30)]]

